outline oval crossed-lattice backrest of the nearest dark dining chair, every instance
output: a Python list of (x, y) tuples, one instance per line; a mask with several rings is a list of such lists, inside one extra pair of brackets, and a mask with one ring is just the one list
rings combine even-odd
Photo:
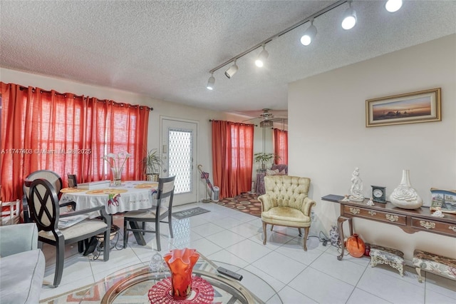
[(38, 230), (57, 229), (59, 206), (56, 189), (44, 178), (37, 178), (30, 186), (28, 207)]

